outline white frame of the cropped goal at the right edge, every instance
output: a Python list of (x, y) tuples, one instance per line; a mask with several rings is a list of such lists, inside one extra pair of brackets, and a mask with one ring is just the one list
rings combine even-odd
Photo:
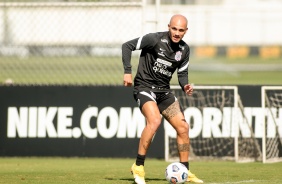
[[(266, 113), (269, 107), (269, 102), (268, 98), (266, 95), (266, 90), (282, 90), (282, 86), (262, 86), (261, 87), (261, 105), (262, 108), (264, 109), (264, 112)], [(282, 108), (282, 107), (281, 107)], [(270, 110), (271, 116), (273, 117), (273, 121), (275, 124), (277, 124), (273, 112)], [(282, 123), (282, 122), (280, 122)], [(262, 137), (262, 162), (263, 163), (273, 163), (273, 162), (282, 162), (282, 157), (272, 157), (272, 158), (267, 158), (267, 130), (266, 130), (267, 122), (266, 118), (264, 119), (264, 125), (263, 125), (263, 137)], [(277, 131), (277, 125), (276, 125), (276, 131)], [(276, 132), (279, 136), (279, 132)], [(282, 141), (282, 135), (280, 135), (280, 141)]]

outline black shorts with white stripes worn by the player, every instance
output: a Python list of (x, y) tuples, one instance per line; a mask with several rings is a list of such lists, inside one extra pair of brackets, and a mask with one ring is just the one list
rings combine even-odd
[(139, 91), (134, 92), (134, 99), (136, 100), (139, 108), (142, 110), (143, 105), (148, 101), (154, 101), (159, 107), (160, 113), (167, 109), (171, 104), (177, 101), (177, 98), (171, 92), (152, 92), (152, 91)]

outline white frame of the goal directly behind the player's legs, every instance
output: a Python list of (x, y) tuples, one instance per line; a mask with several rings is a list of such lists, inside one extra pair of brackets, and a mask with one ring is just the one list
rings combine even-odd
[[(171, 86), (171, 89), (181, 89), (180, 86)], [(227, 89), (227, 90), (234, 90), (234, 108), (237, 108), (238, 107), (238, 101), (240, 100), (239, 99), (239, 95), (238, 95), (238, 87), (237, 86), (194, 86), (194, 90), (197, 90), (197, 89), (214, 89), (214, 90), (218, 90), (218, 89)], [(184, 94), (184, 92), (183, 92)], [(234, 157), (231, 158), (232, 160), (238, 160), (238, 137), (235, 137), (234, 138)], [(229, 159), (229, 158), (226, 158), (226, 159)], [(175, 158), (170, 158), (170, 154), (169, 154), (169, 136), (168, 136), (168, 133), (167, 131), (165, 130), (165, 160), (166, 161), (175, 161)]]

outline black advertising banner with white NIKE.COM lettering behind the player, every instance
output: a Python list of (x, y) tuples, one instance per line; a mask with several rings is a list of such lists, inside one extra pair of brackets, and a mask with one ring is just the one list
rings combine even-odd
[[(247, 152), (242, 145), (265, 152), (263, 140), (281, 138), (281, 86), (195, 86), (189, 97), (180, 88), (173, 92), (190, 123), (193, 156), (234, 157)], [(145, 124), (132, 88), (0, 86), (0, 156), (136, 157)], [(177, 157), (175, 143), (175, 131), (162, 121), (148, 157)]]

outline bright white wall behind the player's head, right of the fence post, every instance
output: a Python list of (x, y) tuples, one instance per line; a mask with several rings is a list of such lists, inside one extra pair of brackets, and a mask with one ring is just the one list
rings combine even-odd
[(282, 6), (164, 6), (160, 26), (174, 13), (189, 19), (192, 45), (280, 45)]

